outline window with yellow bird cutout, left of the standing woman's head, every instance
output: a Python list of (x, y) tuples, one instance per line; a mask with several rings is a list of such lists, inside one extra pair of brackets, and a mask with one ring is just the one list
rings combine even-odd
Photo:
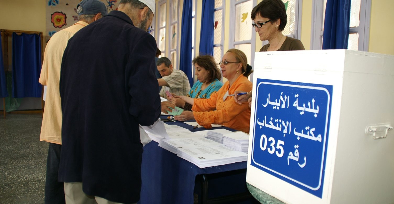
[(256, 0), (230, 1), (230, 44), (229, 48), (243, 51), (247, 63), (253, 64), (256, 47), (256, 32), (250, 18)]

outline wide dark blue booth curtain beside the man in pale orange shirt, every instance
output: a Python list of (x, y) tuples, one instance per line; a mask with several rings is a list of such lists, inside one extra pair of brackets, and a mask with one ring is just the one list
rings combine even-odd
[(41, 39), (37, 34), (12, 33), (12, 94), (15, 98), (41, 97)]

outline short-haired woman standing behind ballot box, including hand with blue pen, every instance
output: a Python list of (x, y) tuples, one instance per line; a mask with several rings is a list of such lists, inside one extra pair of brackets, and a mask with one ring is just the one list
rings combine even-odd
[[(260, 52), (305, 50), (300, 40), (282, 34), (287, 23), (286, 7), (282, 0), (263, 0), (253, 8), (251, 18), (254, 21), (252, 26), (260, 40), (268, 40), (268, 44), (264, 45)], [(238, 94), (244, 90), (237, 90), (235, 93)], [(234, 95), (234, 100), (238, 104), (249, 101), (249, 107), (251, 107), (251, 97), (252, 92), (249, 92), (242, 96)]]

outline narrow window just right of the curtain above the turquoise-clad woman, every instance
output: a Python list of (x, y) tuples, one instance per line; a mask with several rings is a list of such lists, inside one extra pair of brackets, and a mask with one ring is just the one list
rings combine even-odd
[(215, 0), (215, 10), (214, 10), (214, 59), (216, 63), (221, 61), (223, 57), (223, 39), (224, 39), (224, 3), (223, 0)]

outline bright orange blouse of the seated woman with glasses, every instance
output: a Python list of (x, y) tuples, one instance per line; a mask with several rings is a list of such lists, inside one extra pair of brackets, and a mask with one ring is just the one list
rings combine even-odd
[(227, 97), (223, 101), (223, 96), (229, 91), (234, 94), (235, 91), (250, 91), (252, 83), (243, 75), (238, 76), (231, 87), (227, 81), (216, 93), (212, 94), (209, 99), (194, 99), (193, 116), (199, 125), (206, 129), (212, 128), (212, 124), (219, 124), (242, 132), (249, 133), (250, 126), (250, 108), (248, 102), (239, 105), (233, 97)]

